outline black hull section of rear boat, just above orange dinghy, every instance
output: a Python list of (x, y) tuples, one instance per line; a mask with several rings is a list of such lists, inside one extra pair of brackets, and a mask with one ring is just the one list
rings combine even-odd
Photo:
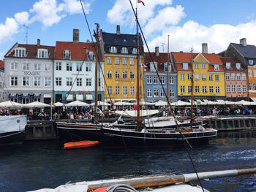
[(59, 142), (100, 141), (101, 126), (97, 124), (56, 123), (56, 137)]

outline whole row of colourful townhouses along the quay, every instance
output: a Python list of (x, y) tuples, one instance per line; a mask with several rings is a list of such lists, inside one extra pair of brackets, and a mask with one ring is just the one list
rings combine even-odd
[[(99, 61), (98, 100), (135, 101), (136, 34), (121, 34), (120, 26), (116, 34), (102, 30), (99, 34), (99, 54), (95, 43), (79, 42), (78, 29), (73, 30), (72, 42), (57, 41), (56, 46), (41, 45), (39, 39), (37, 45), (15, 43), (4, 55), (4, 65), (0, 63), (0, 99), (23, 104), (75, 100), (90, 103), (95, 98), (95, 66)], [(159, 53), (159, 47), (154, 53), (144, 52), (140, 36), (139, 45), (143, 101), (166, 101), (165, 91), (170, 101), (188, 101), (192, 75), (195, 99), (256, 99), (256, 47), (246, 45), (246, 39), (230, 43), (218, 54), (208, 53), (206, 43), (202, 44), (202, 53)]]

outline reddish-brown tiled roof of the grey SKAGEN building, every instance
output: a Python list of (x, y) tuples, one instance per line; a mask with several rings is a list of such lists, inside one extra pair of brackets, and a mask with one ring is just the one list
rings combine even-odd
[[(53, 59), (54, 56), (54, 49), (55, 47), (53, 46), (45, 46), (45, 45), (26, 45), (26, 44), (17, 44), (16, 47), (25, 47), (26, 50), (28, 50), (28, 55), (26, 56), (26, 58), (37, 58), (37, 49), (47, 49), (48, 52), (50, 53), (49, 58)], [(12, 52), (9, 55), (5, 55), (7, 57), (13, 57), (15, 51), (12, 50)]]

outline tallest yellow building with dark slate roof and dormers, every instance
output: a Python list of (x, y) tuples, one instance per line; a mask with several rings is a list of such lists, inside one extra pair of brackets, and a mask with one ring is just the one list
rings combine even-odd
[[(137, 93), (137, 41), (135, 34), (102, 32), (104, 46), (105, 102), (136, 101)], [(143, 86), (143, 44), (140, 38), (140, 98)]]

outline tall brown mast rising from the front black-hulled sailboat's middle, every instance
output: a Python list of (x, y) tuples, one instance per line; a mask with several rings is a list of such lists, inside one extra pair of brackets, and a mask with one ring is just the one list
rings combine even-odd
[(136, 7), (136, 29), (137, 29), (137, 131), (140, 129), (140, 50), (138, 31), (138, 8)]

